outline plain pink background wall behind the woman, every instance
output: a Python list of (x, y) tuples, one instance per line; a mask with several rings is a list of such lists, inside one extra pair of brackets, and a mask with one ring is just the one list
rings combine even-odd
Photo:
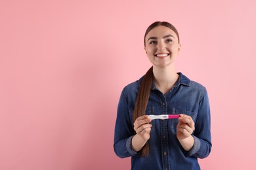
[(150, 67), (146, 27), (179, 30), (177, 71), (207, 87), (202, 169), (256, 169), (256, 1), (1, 1), (0, 169), (130, 169), (114, 154), (122, 88)]

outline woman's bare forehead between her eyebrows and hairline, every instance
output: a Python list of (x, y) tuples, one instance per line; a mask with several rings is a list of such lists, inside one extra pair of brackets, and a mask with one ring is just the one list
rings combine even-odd
[(173, 35), (176, 39), (178, 38), (175, 31), (170, 29), (169, 27), (165, 27), (163, 25), (160, 25), (158, 27), (154, 27), (148, 32), (148, 35), (146, 35), (146, 38), (148, 37), (164, 37), (165, 35)]

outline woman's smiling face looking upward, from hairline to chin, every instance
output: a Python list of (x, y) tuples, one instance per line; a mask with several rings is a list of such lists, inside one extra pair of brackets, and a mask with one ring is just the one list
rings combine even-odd
[(169, 27), (155, 27), (145, 37), (146, 55), (156, 67), (172, 65), (180, 50), (178, 37)]

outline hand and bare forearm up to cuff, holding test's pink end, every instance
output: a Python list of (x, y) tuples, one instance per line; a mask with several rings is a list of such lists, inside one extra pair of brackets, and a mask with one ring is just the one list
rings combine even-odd
[(194, 121), (191, 116), (180, 114), (179, 124), (177, 125), (177, 138), (184, 150), (190, 150), (194, 145), (192, 133), (195, 129)]

